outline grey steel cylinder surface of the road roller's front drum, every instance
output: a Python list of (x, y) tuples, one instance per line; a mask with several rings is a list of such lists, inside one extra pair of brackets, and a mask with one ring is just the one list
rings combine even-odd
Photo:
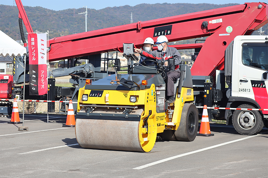
[(144, 152), (138, 121), (76, 119), (76, 139), (83, 148)]

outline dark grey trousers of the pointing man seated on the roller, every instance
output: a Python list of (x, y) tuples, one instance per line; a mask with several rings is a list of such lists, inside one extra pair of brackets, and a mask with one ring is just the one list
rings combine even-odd
[(166, 92), (167, 96), (174, 96), (174, 81), (176, 81), (181, 76), (181, 71), (177, 69), (176, 71), (171, 71), (167, 73), (167, 78), (165, 79), (166, 83)]

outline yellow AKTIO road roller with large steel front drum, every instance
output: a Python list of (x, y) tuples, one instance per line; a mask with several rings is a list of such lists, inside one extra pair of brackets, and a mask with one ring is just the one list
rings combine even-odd
[[(144, 66), (126, 55), (128, 74), (116, 74), (80, 88), (75, 133), (79, 145), (89, 149), (150, 152), (157, 137), (193, 141), (198, 130), (198, 111), (193, 103), (192, 75), (180, 64), (181, 77), (174, 81), (175, 102), (165, 102), (165, 76), (169, 65)], [(115, 70), (120, 70), (120, 63)]]

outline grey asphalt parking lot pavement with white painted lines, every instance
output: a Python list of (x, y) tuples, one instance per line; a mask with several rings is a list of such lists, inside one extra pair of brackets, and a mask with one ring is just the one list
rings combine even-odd
[(28, 131), (8, 121), (0, 118), (0, 177), (268, 177), (265, 127), (247, 136), (210, 124), (212, 137), (157, 140), (149, 153), (135, 153), (80, 147), (75, 128), (62, 127), (66, 115), (49, 115), (47, 123), (46, 114), (25, 114)]

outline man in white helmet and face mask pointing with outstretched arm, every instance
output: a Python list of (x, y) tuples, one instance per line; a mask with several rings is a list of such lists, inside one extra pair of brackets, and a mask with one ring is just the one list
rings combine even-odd
[(174, 103), (175, 98), (174, 98), (174, 81), (176, 81), (178, 78), (181, 76), (181, 71), (179, 69), (179, 64), (181, 63), (181, 55), (178, 52), (176, 48), (173, 47), (168, 47), (168, 39), (166, 36), (161, 35), (157, 37), (157, 50), (151, 51), (151, 52), (146, 52), (141, 49), (135, 49), (135, 52), (138, 52), (141, 54), (141, 56), (145, 56), (148, 58), (153, 58), (156, 60), (165, 60), (165, 66), (168, 65), (168, 59), (173, 58), (175, 60), (175, 71), (171, 71), (167, 73), (167, 77), (165, 79), (166, 83), (166, 102), (167, 103)]

